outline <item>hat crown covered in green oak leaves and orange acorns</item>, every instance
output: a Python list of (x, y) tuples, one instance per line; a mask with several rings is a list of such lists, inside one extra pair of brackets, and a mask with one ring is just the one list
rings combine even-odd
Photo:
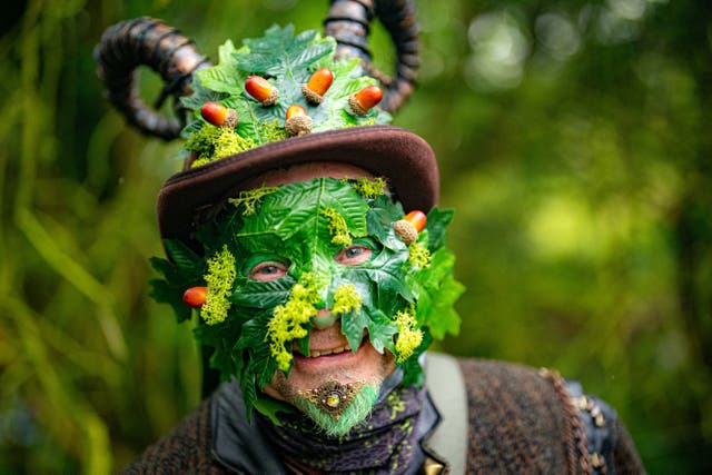
[[(293, 26), (273, 26), (264, 37), (244, 40), (239, 49), (225, 42), (218, 65), (197, 71), (194, 93), (181, 99), (194, 110), (181, 133), (185, 149), (194, 154), (189, 167), (297, 135), (289, 127), (297, 119), (307, 121), (312, 132), (388, 123), (390, 116), (374, 107), (377, 81), (363, 76), (358, 59), (335, 60), (335, 51), (333, 38), (322, 38), (316, 30), (295, 36)], [(325, 70), (330, 72), (326, 87), (313, 78)], [(315, 83), (322, 95), (310, 89)], [(236, 112), (236, 127), (201, 117), (201, 108), (215, 102)], [(299, 117), (289, 117), (295, 110)]]

